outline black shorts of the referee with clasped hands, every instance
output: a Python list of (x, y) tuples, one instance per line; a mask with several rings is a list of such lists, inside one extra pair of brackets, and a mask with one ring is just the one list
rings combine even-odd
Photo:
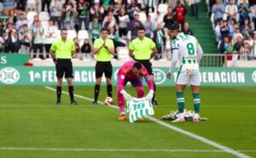
[(110, 61), (97, 61), (96, 62), (96, 78), (102, 77), (103, 73), (106, 77), (111, 78), (113, 68)]

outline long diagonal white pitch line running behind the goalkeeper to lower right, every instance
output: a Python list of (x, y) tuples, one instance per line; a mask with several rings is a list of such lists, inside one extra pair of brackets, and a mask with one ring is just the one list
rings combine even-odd
[[(51, 90), (51, 91), (55, 91), (55, 88), (48, 87), (48, 86), (45, 86), (45, 87), (46, 87), (47, 89)], [(63, 91), (62, 91), (62, 93), (67, 93), (67, 92), (63, 92)], [(68, 93), (67, 93), (67, 94), (68, 94)], [(90, 99), (90, 98), (87, 98), (87, 97), (84, 97), (84, 96), (81, 96), (81, 95), (78, 95), (78, 94), (74, 94), (74, 96), (76, 96), (76, 97), (78, 97), (78, 98), (80, 98), (80, 99), (87, 99), (87, 100), (93, 101), (93, 99)], [(102, 102), (98, 102), (98, 103), (103, 104)], [(110, 106), (110, 107), (115, 108), (115, 109), (119, 109), (117, 106)], [(156, 122), (156, 123), (158, 123), (158, 124), (160, 124), (160, 125), (162, 125), (162, 126), (164, 126), (164, 127), (168, 127), (168, 128), (170, 128), (170, 129), (172, 129), (172, 130), (174, 130), (174, 131), (177, 131), (178, 133), (183, 133), (183, 134), (185, 134), (185, 135), (187, 135), (187, 136), (189, 136), (189, 137), (191, 137), (191, 138), (195, 138), (195, 139), (197, 139), (197, 140), (200, 140), (200, 141), (203, 142), (203, 143), (210, 144), (210, 145), (212, 145), (212, 146), (218, 148), (219, 150), (224, 150), (225, 152), (228, 152), (228, 153), (230, 153), (230, 154), (232, 154), (232, 155), (236, 155), (236, 156), (241, 157), (241, 158), (248, 158), (248, 157), (249, 157), (248, 155), (245, 155), (245, 154), (243, 154), (243, 153), (241, 153), (241, 152), (239, 152), (239, 151), (233, 150), (233, 149), (231, 149), (231, 148), (229, 148), (229, 147), (227, 147), (227, 146), (224, 146), (224, 145), (222, 145), (222, 144), (218, 144), (218, 143), (216, 143), (216, 142), (213, 142), (213, 141), (210, 140), (210, 139), (203, 138), (203, 137), (201, 137), (201, 136), (199, 136), (199, 135), (196, 135), (196, 134), (194, 134), (194, 133), (190, 133), (190, 132), (185, 131), (185, 130), (183, 130), (183, 129), (181, 129), (181, 128), (174, 127), (174, 126), (172, 126), (172, 125), (170, 125), (170, 124), (168, 124), (168, 123), (166, 123), (166, 122), (164, 122), (164, 121), (160, 121), (160, 120), (158, 120), (158, 119), (156, 119), (156, 118), (154, 118), (154, 117), (152, 117), (152, 116), (146, 116), (146, 117), (147, 117), (148, 120), (150, 120), (150, 121), (154, 121), (154, 122)]]

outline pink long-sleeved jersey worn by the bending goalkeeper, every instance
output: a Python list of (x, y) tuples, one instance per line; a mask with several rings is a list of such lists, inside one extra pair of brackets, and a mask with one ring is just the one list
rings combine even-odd
[(142, 68), (140, 76), (136, 76), (133, 73), (132, 67), (133, 67), (134, 63), (136, 63), (136, 61), (128, 61), (124, 65), (122, 65), (122, 67), (119, 69), (118, 81), (117, 81), (119, 91), (125, 89), (125, 86), (124, 86), (125, 80), (130, 81), (130, 80), (142, 77), (142, 76), (144, 76), (146, 82), (148, 83), (149, 90), (151, 90), (151, 89), (154, 90), (153, 82), (151, 81), (148, 71), (146, 70), (146, 68), (144, 66)]

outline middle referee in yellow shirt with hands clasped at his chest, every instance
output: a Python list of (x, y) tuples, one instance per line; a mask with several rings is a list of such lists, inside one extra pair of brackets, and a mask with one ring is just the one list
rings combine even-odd
[(114, 54), (114, 47), (113, 41), (107, 37), (108, 29), (102, 28), (101, 37), (96, 39), (93, 44), (92, 54), (96, 54), (96, 85), (94, 89), (94, 101), (92, 104), (97, 104), (103, 73), (107, 80), (108, 97), (112, 98), (111, 77), (113, 69), (110, 60), (111, 54)]

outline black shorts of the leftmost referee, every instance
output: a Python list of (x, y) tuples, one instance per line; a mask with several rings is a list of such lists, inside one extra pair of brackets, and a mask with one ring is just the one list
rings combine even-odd
[(57, 59), (56, 62), (56, 76), (57, 78), (73, 78), (73, 65), (71, 59)]

